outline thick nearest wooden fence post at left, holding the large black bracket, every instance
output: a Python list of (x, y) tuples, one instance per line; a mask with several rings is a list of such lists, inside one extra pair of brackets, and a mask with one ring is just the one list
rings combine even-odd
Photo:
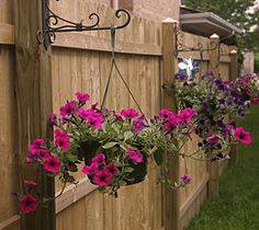
[[(53, 110), (50, 50), (46, 51), (36, 41), (37, 30), (42, 27), (41, 2), (14, 0), (18, 148), (23, 168), (20, 177), (37, 181), (41, 193), (53, 196), (54, 180), (45, 177), (42, 168), (25, 163), (30, 142), (41, 137), (52, 138), (47, 125), (47, 115)], [(23, 230), (54, 230), (55, 226), (54, 202), (48, 209), (38, 207), (35, 212), (22, 217)]]

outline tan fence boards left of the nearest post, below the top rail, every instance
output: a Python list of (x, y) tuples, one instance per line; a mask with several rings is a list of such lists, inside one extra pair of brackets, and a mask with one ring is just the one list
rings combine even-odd
[(11, 193), (18, 191), (18, 128), (14, 94), (14, 53), (0, 45), (0, 225), (16, 214), (16, 200)]

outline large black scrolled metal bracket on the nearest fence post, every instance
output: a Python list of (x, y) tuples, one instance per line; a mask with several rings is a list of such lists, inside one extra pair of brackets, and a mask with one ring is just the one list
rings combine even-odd
[[(55, 14), (49, 8), (49, 0), (42, 0), (42, 31), (37, 31), (37, 41), (40, 44), (44, 44), (45, 49), (47, 49), (48, 46), (55, 42), (56, 33), (120, 30), (127, 26), (131, 22), (131, 14), (126, 10), (121, 9), (115, 12), (117, 19), (120, 19), (122, 14), (127, 18), (126, 22), (122, 25), (100, 26), (100, 16), (97, 13), (91, 13), (88, 19), (92, 23), (85, 25), (85, 20), (77, 23)], [(60, 25), (59, 22), (65, 24)]]

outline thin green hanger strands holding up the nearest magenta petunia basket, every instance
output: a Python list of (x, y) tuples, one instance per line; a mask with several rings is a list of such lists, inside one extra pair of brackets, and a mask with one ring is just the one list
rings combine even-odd
[(120, 69), (119, 69), (119, 67), (116, 65), (116, 61), (115, 61), (115, 31), (116, 31), (116, 28), (114, 27), (114, 23), (112, 23), (112, 25), (111, 25), (112, 65), (111, 65), (111, 69), (110, 69), (109, 78), (108, 78), (108, 83), (106, 83), (105, 91), (104, 91), (103, 99), (102, 99), (101, 111), (103, 111), (103, 106), (104, 106), (105, 101), (106, 101), (108, 90), (109, 90), (109, 87), (110, 87), (110, 83), (111, 83), (111, 79), (112, 79), (112, 71), (113, 71), (113, 68), (115, 68), (115, 70), (119, 73), (123, 84), (127, 89), (127, 92), (130, 93), (130, 95), (132, 96), (133, 101), (135, 102), (138, 111), (142, 113), (142, 115), (144, 115), (139, 104), (137, 103), (137, 101), (136, 101), (135, 96), (133, 95), (130, 87), (127, 85), (127, 82), (123, 78), (122, 72), (120, 71)]

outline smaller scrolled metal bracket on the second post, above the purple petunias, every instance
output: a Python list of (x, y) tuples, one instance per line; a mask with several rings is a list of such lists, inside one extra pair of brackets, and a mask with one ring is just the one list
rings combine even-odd
[(203, 44), (202, 43), (198, 43), (196, 44), (196, 47), (190, 47), (190, 46), (187, 46), (182, 43), (182, 39), (183, 39), (183, 32), (180, 31), (179, 27), (176, 27), (176, 58), (178, 57), (179, 53), (181, 51), (200, 51), (201, 54), (201, 59), (203, 59), (203, 53), (204, 51), (210, 51), (210, 50), (215, 50), (218, 48), (218, 45), (217, 43), (215, 42), (211, 42), (211, 48), (203, 48)]

